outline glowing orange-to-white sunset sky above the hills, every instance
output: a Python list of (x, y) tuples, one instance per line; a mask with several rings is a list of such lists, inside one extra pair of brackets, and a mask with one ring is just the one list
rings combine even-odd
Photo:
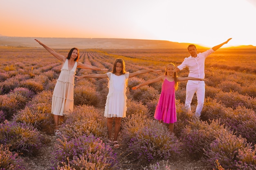
[(12, 37), (256, 46), (255, 20), (256, 0), (0, 0), (0, 35)]

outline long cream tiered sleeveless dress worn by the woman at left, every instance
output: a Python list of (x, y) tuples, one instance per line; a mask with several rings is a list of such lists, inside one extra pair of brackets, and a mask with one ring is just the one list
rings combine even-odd
[(61, 73), (54, 87), (52, 95), (52, 114), (67, 115), (74, 108), (74, 75), (76, 74), (77, 62), (71, 70), (68, 69), (68, 60), (66, 59), (61, 68)]

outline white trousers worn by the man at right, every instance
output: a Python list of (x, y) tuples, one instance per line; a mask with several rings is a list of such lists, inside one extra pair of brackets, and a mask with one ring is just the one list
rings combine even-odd
[[(196, 82), (196, 83), (195, 83)], [(194, 94), (198, 99), (198, 105), (195, 110), (195, 115), (200, 116), (204, 106), (205, 83), (204, 81), (188, 81), (186, 84), (186, 101), (185, 107), (191, 111), (191, 102)], [(198, 83), (199, 82), (199, 83)]]

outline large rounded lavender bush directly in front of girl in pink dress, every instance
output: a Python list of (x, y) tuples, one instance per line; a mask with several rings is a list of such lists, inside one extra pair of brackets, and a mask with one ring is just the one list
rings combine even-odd
[(139, 162), (174, 159), (180, 153), (180, 142), (168, 128), (158, 121), (151, 121), (140, 128), (128, 143), (128, 152), (132, 152)]

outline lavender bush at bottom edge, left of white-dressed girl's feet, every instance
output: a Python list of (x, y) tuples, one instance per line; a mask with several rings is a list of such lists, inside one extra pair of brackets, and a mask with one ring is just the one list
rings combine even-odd
[(95, 169), (111, 169), (116, 164), (116, 155), (110, 146), (93, 135), (58, 141), (55, 155), (57, 161), (62, 162), (60, 164), (69, 164), (76, 170), (85, 168), (88, 163), (95, 164)]

